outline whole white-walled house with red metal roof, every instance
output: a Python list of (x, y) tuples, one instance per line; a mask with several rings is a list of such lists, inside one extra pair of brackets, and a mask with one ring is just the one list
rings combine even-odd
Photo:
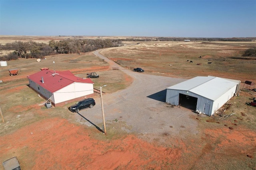
[(94, 93), (90, 78), (79, 78), (70, 71), (43, 69), (27, 76), (29, 86), (54, 106), (81, 100)]

